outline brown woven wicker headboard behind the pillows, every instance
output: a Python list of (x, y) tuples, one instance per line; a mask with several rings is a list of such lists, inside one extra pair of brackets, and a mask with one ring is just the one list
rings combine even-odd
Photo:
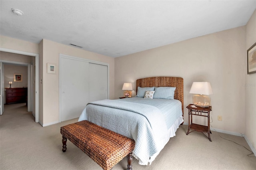
[(138, 87), (176, 87), (174, 99), (181, 101), (182, 113), (184, 107), (183, 101), (183, 78), (181, 77), (148, 77), (136, 80), (136, 93)]

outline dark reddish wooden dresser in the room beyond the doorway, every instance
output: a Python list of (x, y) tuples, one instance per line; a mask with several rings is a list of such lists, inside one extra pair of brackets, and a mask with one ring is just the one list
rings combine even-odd
[(28, 88), (6, 88), (6, 105), (11, 103), (26, 103)]

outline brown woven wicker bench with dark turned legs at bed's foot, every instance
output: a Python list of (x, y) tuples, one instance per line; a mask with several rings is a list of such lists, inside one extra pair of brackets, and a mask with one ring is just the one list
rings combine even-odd
[(104, 170), (110, 170), (127, 156), (127, 170), (132, 170), (133, 139), (100, 127), (89, 121), (80, 121), (60, 128), (62, 151), (66, 152), (67, 139), (86, 153)]

